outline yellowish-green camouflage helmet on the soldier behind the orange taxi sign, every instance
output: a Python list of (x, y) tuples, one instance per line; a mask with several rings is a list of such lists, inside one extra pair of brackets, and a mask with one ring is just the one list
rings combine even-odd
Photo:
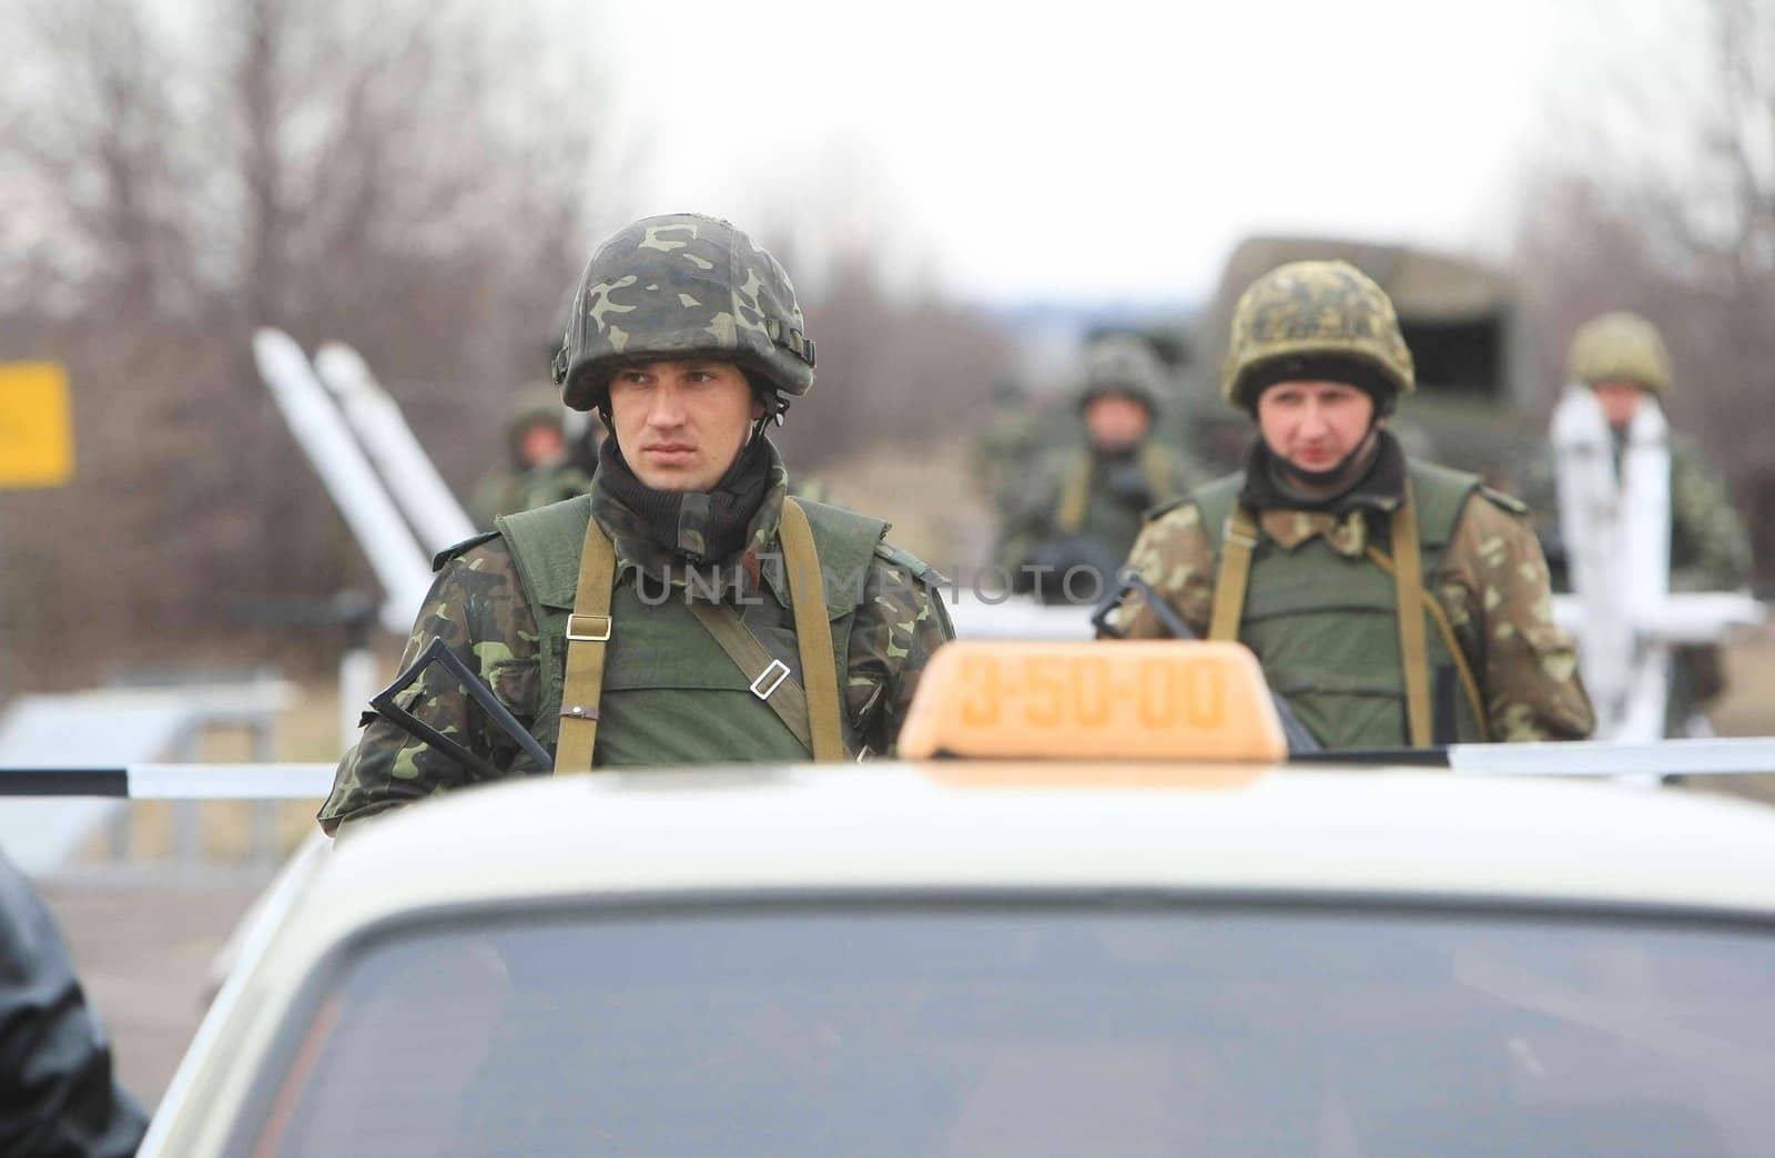
[(1347, 261), (1292, 261), (1251, 282), (1232, 314), (1221, 396), (1257, 410), (1264, 385), (1353, 378), (1392, 410), (1413, 389), (1411, 350), (1393, 302)]

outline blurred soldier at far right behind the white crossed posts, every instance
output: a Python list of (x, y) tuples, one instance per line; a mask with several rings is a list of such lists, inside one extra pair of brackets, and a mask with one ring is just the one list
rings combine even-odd
[[(1670, 398), (1670, 353), (1658, 329), (1631, 313), (1608, 313), (1578, 327), (1567, 353), (1567, 380), (1596, 391), (1615, 442), (1615, 472), (1626, 432), (1640, 407), (1660, 407)], [(1750, 535), (1732, 508), (1725, 481), (1708, 464), (1700, 448), (1670, 432), (1670, 590), (1736, 591), (1750, 584)], [(1542, 462), (1532, 494), (1546, 499), (1542, 527), (1550, 556), (1562, 554), (1555, 515), (1558, 512), (1553, 465)], [(1560, 577), (1560, 575), (1557, 575)], [(1725, 689), (1720, 648), (1677, 648), (1670, 670), (1667, 735), (1683, 735), (1690, 718)]]

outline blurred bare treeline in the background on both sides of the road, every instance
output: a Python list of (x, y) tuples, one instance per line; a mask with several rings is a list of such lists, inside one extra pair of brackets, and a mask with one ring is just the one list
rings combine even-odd
[[(561, 36), (545, 2), (0, 5), (0, 361), (67, 366), (78, 455), (71, 487), (0, 492), (0, 694), (330, 659), (334, 632), (238, 616), (373, 590), (259, 382), (256, 325), (357, 346), (467, 494), (517, 387), (545, 375), (591, 243), (641, 213), (721, 208), (632, 199), (646, 147), (612, 146), (609, 78), (575, 48), (596, 30)], [(1770, 575), (1775, 0), (1670, 20), (1658, 75), (1551, 110), (1566, 137), (1521, 197), (1511, 272), (1542, 384), (1596, 313), (1665, 330), (1674, 419), (1727, 472)], [(852, 211), (838, 185), (783, 197), (740, 224), (793, 270), (820, 346), (779, 435), (790, 462), (889, 455), (923, 474), (928, 448), (976, 432), (1014, 339), (889, 281), (884, 258), (905, 254), (879, 236), (809, 243), (843, 234), (809, 220)]]

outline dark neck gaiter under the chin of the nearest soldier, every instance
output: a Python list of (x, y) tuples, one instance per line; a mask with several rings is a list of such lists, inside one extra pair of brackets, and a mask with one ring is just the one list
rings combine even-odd
[(653, 490), (628, 469), (616, 439), (598, 448), (596, 485), (635, 517), (655, 543), (690, 563), (722, 561), (746, 545), (770, 488), (770, 440), (753, 437), (714, 490)]

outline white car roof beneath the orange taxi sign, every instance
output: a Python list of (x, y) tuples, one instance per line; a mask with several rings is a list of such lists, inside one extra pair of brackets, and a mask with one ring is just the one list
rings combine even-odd
[(483, 899), (756, 890), (1127, 886), (1775, 915), (1768, 806), (1440, 771), (935, 762), (557, 776), (364, 828), (309, 890), (327, 897), (323, 915), (304, 915), (330, 925), (321, 936)]

